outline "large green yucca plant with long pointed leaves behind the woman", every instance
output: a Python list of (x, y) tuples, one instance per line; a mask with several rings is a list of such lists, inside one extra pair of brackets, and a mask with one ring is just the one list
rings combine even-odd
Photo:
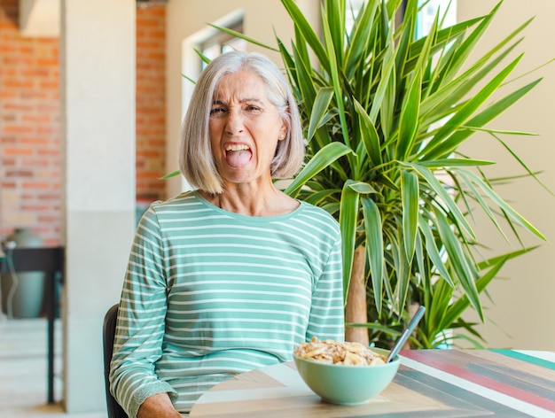
[(522, 231), (544, 237), (494, 191), (495, 179), (484, 172), (494, 162), (459, 149), (485, 132), (535, 176), (503, 140), (528, 134), (487, 128), (539, 82), (506, 82), (529, 21), (469, 62), (500, 4), (452, 27), (442, 28), (438, 13), (429, 34), (417, 39), (417, 0), (368, 0), (350, 28), (346, 1), (324, 0), (322, 35), (294, 0), (282, 3), (295, 29), (290, 45), (277, 38), (271, 47), (220, 29), (281, 54), (309, 157), (285, 191), (340, 221), (346, 302), (368, 314), (357, 323), (348, 316), (354, 333), (347, 338), (365, 342), (370, 330), (371, 341), (388, 344), (410, 306), (422, 304), (414, 346), (436, 347), (446, 330), (458, 337), (460, 328), (481, 344), (462, 314), (471, 307), (483, 321), (481, 292), (508, 259), (530, 249), (488, 259), (479, 251), (473, 213), (485, 213), (507, 240), (504, 228), (519, 242)]

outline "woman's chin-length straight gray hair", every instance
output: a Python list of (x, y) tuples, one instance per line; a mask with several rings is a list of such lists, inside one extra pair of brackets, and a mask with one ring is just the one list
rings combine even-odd
[(215, 166), (208, 122), (218, 82), (225, 74), (246, 69), (258, 74), (268, 88), (270, 103), (285, 121), (285, 139), (277, 142), (270, 163), (274, 179), (297, 174), (304, 161), (305, 144), (301, 116), (285, 76), (270, 58), (256, 52), (228, 52), (215, 58), (200, 74), (182, 127), (179, 168), (193, 188), (216, 194), (223, 192), (222, 177)]

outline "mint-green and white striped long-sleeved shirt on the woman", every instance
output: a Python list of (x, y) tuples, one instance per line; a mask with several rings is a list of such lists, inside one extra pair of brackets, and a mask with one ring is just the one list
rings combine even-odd
[(301, 202), (252, 217), (195, 191), (151, 205), (121, 293), (111, 370), (129, 416), (168, 392), (186, 414), (215, 383), (344, 337), (340, 228)]

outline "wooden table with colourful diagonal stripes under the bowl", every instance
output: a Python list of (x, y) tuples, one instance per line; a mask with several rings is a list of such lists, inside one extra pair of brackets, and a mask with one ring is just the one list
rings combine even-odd
[(363, 405), (325, 403), (293, 362), (217, 384), (192, 417), (555, 417), (555, 352), (409, 350), (394, 381)]

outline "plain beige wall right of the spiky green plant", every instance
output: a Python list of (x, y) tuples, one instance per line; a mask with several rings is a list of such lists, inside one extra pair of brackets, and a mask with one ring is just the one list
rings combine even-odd
[[(465, 20), (486, 14), (497, 4), (497, 0), (459, 0), (458, 19)], [(535, 17), (524, 31), (525, 39), (517, 48), (524, 51), (524, 58), (515, 74), (526, 74), (555, 58), (555, 2), (552, 0), (505, 0), (488, 34), (479, 43), (477, 50), (485, 52), (496, 42), (509, 35), (529, 18)], [(544, 80), (527, 97), (504, 115), (492, 121), (490, 128), (534, 132), (539, 136), (509, 137), (504, 140), (524, 160), (542, 181), (555, 190), (555, 125), (552, 101), (555, 96), (555, 65), (543, 67), (535, 74), (527, 75), (524, 81), (544, 77)], [(486, 135), (477, 135), (465, 149), (475, 158), (492, 159), (498, 164), (488, 170), (492, 176), (524, 174), (518, 163), (494, 140)], [(503, 280), (496, 280), (490, 289), (494, 303), (484, 298), (489, 322), (480, 330), (490, 347), (517, 347), (527, 349), (555, 350), (555, 197), (542, 189), (534, 180), (525, 179), (500, 187), (499, 194), (517, 209), (536, 228), (539, 228), (550, 242), (543, 243), (529, 234), (522, 235), (526, 245), (541, 244), (539, 249), (510, 261), (502, 270)], [(504, 243), (503, 238), (491, 227), (480, 224), (479, 240), (496, 249), (497, 253), (518, 248), (518, 241), (512, 239), (513, 246)], [(511, 232), (507, 233), (512, 238)]]

